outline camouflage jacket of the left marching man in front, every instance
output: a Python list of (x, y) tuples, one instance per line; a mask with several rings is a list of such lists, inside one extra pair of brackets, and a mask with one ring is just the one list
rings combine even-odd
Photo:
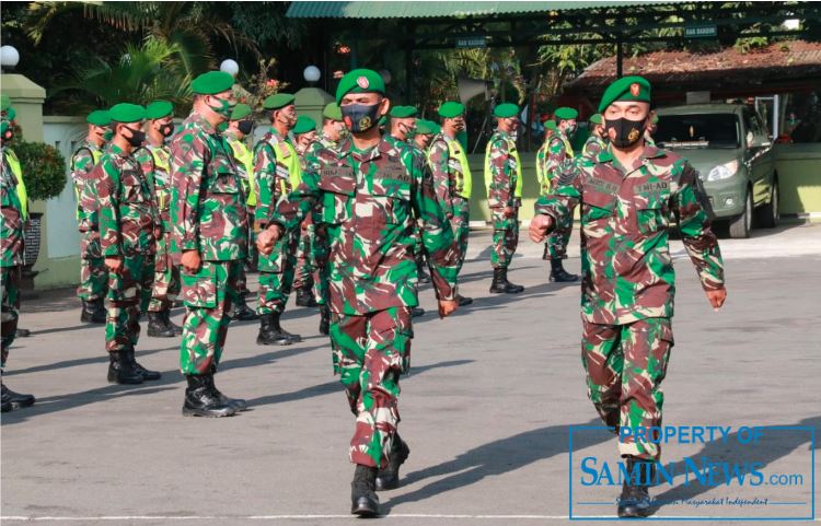
[(333, 312), (360, 315), (417, 305), (417, 218), (437, 296), (455, 297), (458, 250), (427, 164), (386, 140), (365, 152), (346, 140), (338, 153), (321, 150), (309, 161), (302, 183), (279, 202), (274, 221), (296, 229), (321, 203)]

